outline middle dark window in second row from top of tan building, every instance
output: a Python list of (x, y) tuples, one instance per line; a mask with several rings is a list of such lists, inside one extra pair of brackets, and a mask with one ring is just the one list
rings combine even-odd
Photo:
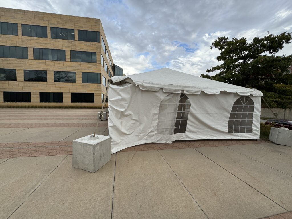
[(65, 50), (34, 48), (34, 59), (51, 60), (51, 61), (66, 61)]

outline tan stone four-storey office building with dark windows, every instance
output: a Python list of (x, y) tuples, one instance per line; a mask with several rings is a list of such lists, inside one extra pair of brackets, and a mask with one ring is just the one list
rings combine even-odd
[(0, 105), (101, 105), (114, 62), (100, 19), (0, 8)]

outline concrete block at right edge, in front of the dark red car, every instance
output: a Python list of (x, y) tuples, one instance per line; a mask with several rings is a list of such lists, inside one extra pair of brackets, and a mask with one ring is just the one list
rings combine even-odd
[(278, 145), (292, 147), (292, 131), (288, 128), (271, 128), (269, 140)]

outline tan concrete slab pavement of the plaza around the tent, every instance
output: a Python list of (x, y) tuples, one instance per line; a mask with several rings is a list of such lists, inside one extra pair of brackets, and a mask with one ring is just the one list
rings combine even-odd
[[(5, 124), (23, 124), (16, 119), (39, 123), (43, 119), (54, 126), (52, 123), (66, 123), (67, 119), (83, 126), (94, 123), (97, 112), (48, 111), (20, 110), (21, 117), (5, 111), (0, 120), (1, 124), (4, 119)], [(88, 121), (80, 122), (85, 120), (83, 114)], [(68, 139), (94, 129), (81, 127), (87, 131), (62, 133), (51, 128), (13, 132), (0, 128), (0, 151), (42, 149), (44, 140), (51, 142), (48, 148), (67, 147)], [(68, 128), (72, 127), (64, 129)], [(107, 127), (99, 128), (99, 134), (106, 133)], [(32, 131), (38, 134), (32, 136)], [(22, 137), (15, 141), (13, 136)], [(58, 140), (68, 143), (52, 146)], [(217, 147), (212, 141), (168, 145), (178, 149), (146, 145), (132, 147), (137, 151), (117, 152), (95, 173), (73, 168), (69, 152), (0, 158), (0, 218), (292, 218), (292, 147), (257, 141), (222, 141)]]

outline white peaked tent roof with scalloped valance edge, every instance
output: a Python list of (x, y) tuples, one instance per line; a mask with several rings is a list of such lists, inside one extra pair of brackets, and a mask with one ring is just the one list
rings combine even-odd
[(162, 88), (164, 92), (168, 93), (180, 93), (181, 90), (185, 93), (194, 94), (200, 94), (201, 91), (205, 93), (227, 91), (230, 93), (238, 93), (239, 95), (263, 96), (263, 93), (256, 89), (214, 81), (169, 68), (161, 68), (127, 76), (115, 76), (112, 77), (112, 81), (113, 83), (126, 81), (135, 86), (139, 86), (142, 90), (148, 91), (159, 91)]

